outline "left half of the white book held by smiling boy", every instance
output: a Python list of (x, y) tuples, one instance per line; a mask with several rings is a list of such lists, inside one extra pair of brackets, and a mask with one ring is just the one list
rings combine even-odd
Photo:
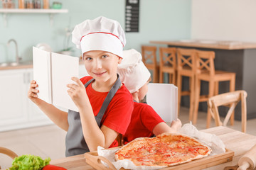
[(33, 47), (33, 79), (38, 84), (38, 98), (47, 103), (51, 100), (50, 52)]

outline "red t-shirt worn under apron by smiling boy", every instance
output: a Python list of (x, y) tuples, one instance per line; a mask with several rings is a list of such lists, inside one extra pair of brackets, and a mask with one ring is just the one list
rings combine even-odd
[[(80, 81), (86, 84), (87, 81), (92, 79), (92, 77), (82, 77)], [(103, 101), (105, 100), (108, 92), (99, 92), (92, 89), (92, 83), (90, 83), (86, 88), (86, 93), (89, 98), (90, 104), (92, 106), (92, 111), (96, 116), (99, 113)], [(134, 101), (132, 99), (132, 94), (129, 93), (124, 84), (117, 90), (117, 93), (110, 101), (107, 110), (102, 117), (102, 125), (107, 126), (116, 132), (124, 134), (129, 126), (132, 111), (134, 109)], [(110, 147), (117, 147), (118, 143), (115, 140)]]

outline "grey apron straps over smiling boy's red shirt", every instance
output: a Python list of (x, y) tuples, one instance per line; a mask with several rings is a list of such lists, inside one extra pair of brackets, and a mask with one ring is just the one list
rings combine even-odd
[[(89, 81), (87, 81), (87, 83), (85, 84), (85, 88), (95, 79), (90, 79)], [(109, 106), (110, 101), (112, 101), (112, 98), (114, 97), (114, 94), (117, 93), (119, 87), (121, 86), (121, 80), (119, 79), (119, 75), (117, 74), (117, 81), (114, 82), (114, 85), (112, 86), (112, 88), (110, 89), (110, 91), (108, 92), (102, 107), (100, 108), (99, 113), (97, 113), (97, 116), (95, 116), (97, 125), (100, 127), (100, 122), (102, 120), (102, 117), (105, 113), (105, 111), (107, 110), (107, 106)]]

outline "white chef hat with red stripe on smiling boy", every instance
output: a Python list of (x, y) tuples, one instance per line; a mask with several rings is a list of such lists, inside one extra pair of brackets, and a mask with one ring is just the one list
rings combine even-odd
[(75, 26), (72, 42), (82, 50), (82, 54), (87, 51), (101, 50), (122, 57), (126, 40), (124, 30), (117, 21), (100, 16)]

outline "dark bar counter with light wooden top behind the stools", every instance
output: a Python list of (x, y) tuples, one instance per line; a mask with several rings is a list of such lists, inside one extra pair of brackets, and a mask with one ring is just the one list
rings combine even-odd
[[(215, 52), (216, 70), (235, 72), (235, 90), (247, 91), (247, 118), (256, 118), (256, 42), (234, 42), (216, 40), (176, 40), (150, 41), (152, 45), (160, 44), (168, 47), (195, 48)], [(183, 78), (184, 88), (188, 89), (188, 79)], [(203, 81), (201, 94), (208, 94), (208, 83)], [(220, 82), (219, 94), (229, 91), (229, 82)], [(182, 106), (189, 106), (189, 97), (181, 99)], [(207, 111), (207, 103), (202, 102), (199, 110)], [(220, 108), (220, 115), (225, 116), (228, 110)], [(235, 108), (235, 119), (241, 120), (240, 104)]]

